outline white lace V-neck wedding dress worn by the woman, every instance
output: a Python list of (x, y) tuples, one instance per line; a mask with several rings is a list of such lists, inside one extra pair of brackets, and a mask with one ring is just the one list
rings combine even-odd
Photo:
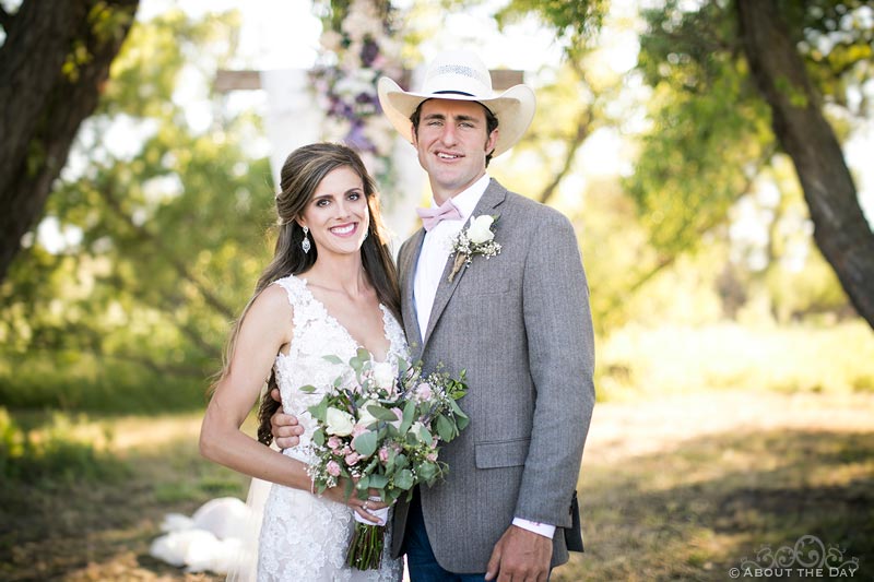
[[(310, 462), (308, 446), (316, 428), (307, 407), (317, 404), (344, 366), (327, 361), (335, 355), (349, 361), (358, 349), (349, 331), (331, 317), (307, 288), (305, 278), (288, 276), (276, 281), (288, 293), (294, 308), (294, 338), (287, 355), (276, 357), (274, 369), (286, 413), (297, 416), (304, 427), (300, 444), (283, 454)], [(386, 337), (391, 347), (388, 360), (406, 356), (403, 330), (391, 312), (380, 306)], [(315, 393), (298, 390), (316, 387)], [(345, 504), (319, 498), (309, 491), (273, 485), (264, 504), (258, 549), (258, 580), (285, 582), (398, 582), (403, 563), (389, 556), (391, 531), (386, 532), (379, 570), (347, 568), (346, 548), (355, 527), (353, 511)]]

